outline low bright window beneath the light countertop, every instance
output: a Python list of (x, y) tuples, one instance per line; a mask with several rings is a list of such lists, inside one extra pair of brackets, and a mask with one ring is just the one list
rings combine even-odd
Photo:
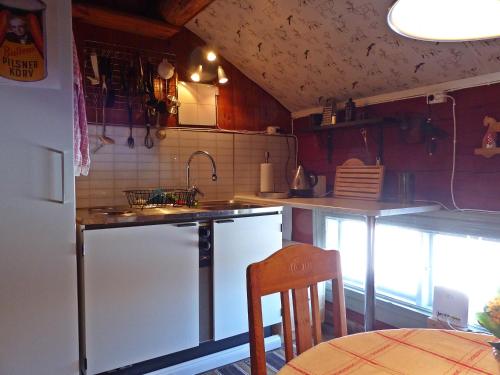
[[(321, 216), (326, 248), (339, 249), (347, 287), (362, 290), (366, 270), (366, 224), (359, 219)], [(379, 223), (375, 236), (377, 295), (432, 309), (435, 285), (469, 296), (469, 321), (500, 287), (500, 241), (436, 233)]]

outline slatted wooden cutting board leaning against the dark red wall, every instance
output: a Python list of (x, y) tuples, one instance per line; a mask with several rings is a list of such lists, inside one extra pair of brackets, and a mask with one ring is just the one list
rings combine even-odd
[(384, 166), (365, 165), (349, 159), (337, 167), (334, 195), (337, 198), (379, 200), (384, 183)]

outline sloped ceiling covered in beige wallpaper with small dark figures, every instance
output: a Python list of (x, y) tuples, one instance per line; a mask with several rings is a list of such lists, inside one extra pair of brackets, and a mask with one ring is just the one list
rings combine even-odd
[(291, 111), (500, 71), (500, 39), (400, 37), (393, 0), (216, 0), (186, 26)]

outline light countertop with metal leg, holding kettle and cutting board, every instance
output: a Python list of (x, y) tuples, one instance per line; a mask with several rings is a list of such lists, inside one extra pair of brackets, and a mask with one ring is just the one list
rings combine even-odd
[(339, 214), (361, 216), (393, 216), (437, 211), (441, 207), (431, 203), (377, 202), (363, 199), (345, 198), (261, 198), (252, 194), (238, 194), (234, 199), (267, 205), (280, 205), (304, 209), (323, 209)]

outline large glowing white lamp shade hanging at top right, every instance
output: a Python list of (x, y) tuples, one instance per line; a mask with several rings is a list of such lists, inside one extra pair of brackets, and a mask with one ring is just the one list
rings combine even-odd
[(391, 29), (405, 37), (463, 42), (500, 37), (500, 0), (397, 0)]

